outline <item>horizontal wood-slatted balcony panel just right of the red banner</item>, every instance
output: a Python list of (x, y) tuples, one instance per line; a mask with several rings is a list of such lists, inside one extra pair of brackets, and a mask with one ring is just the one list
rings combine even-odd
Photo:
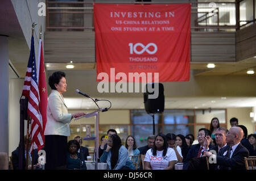
[(236, 61), (235, 32), (192, 32), (193, 61)]

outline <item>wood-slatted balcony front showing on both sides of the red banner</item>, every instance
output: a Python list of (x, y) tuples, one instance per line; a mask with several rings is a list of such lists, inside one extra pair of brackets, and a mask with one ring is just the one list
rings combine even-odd
[[(236, 61), (235, 32), (192, 32), (193, 61)], [(94, 32), (46, 32), (46, 62), (95, 62)]]

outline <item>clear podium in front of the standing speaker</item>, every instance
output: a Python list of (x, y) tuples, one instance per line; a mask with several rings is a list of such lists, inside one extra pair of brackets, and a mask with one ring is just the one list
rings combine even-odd
[(98, 170), (98, 113), (101, 112), (102, 110), (97, 110), (94, 112), (90, 112), (90, 113), (86, 113), (83, 116), (77, 117), (75, 118), (75, 120), (81, 119), (82, 117), (88, 118), (88, 117), (92, 117), (92, 116), (96, 116), (96, 125), (95, 125), (95, 131), (96, 133), (94, 133), (94, 135), (96, 137), (83, 137), (81, 138), (82, 140), (95, 140), (95, 152), (96, 155), (94, 157), (95, 159), (95, 170)]

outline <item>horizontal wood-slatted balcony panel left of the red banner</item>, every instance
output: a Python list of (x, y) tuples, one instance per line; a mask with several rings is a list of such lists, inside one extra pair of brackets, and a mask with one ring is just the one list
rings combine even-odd
[(94, 32), (46, 32), (45, 62), (95, 62)]

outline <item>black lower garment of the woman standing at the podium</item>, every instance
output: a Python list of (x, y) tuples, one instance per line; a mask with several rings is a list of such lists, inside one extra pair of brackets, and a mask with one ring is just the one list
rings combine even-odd
[(44, 136), (46, 149), (46, 170), (64, 170), (67, 168), (67, 136)]

